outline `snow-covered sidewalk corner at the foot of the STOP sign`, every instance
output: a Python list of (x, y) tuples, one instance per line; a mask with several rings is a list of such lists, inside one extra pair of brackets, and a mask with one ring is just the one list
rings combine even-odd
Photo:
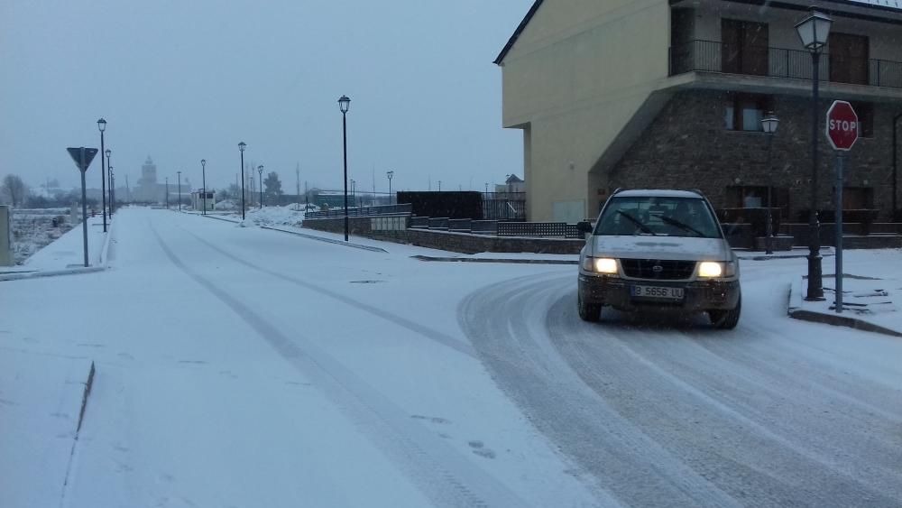
[(808, 280), (800, 276), (792, 285), (789, 315), (796, 319), (848, 326), (902, 337), (902, 269), (891, 263), (897, 250), (860, 252), (857, 259), (870, 262), (847, 263), (843, 267), (842, 313), (836, 311), (836, 277), (829, 273), (832, 261), (824, 261), (824, 300), (805, 300)]

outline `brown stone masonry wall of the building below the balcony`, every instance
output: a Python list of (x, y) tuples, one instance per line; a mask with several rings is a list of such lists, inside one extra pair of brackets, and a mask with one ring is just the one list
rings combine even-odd
[[(726, 128), (731, 97), (725, 91), (678, 92), (612, 169), (611, 188), (700, 189), (714, 208), (732, 208), (736, 190), (728, 188), (771, 185), (780, 194), (775, 192), (775, 206), (797, 220), (811, 199), (810, 99), (769, 96), (780, 120), (771, 141), (769, 134)], [(824, 114), (832, 102), (824, 98)], [(880, 220), (893, 214), (892, 122), (899, 113), (902, 105), (874, 103), (873, 134), (859, 139), (845, 164), (846, 187), (870, 189)], [(822, 118), (817, 201), (819, 209), (833, 209), (835, 155), (823, 125)]]

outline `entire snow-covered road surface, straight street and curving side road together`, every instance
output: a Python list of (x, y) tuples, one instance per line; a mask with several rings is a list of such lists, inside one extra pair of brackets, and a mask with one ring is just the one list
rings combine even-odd
[(130, 208), (110, 270), (0, 282), (0, 506), (902, 505), (902, 340), (787, 318), (805, 259), (723, 332), (379, 245)]

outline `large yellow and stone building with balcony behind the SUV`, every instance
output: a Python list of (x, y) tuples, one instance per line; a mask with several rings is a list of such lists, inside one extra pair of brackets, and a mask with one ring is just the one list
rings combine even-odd
[[(699, 188), (728, 207), (778, 185), (787, 202), (774, 206), (807, 206), (788, 199), (804, 194), (809, 158), (811, 57), (794, 24), (812, 4), (833, 18), (822, 97), (858, 101), (872, 124), (873, 141), (852, 154), (870, 173), (850, 196), (897, 208), (896, 177), (875, 182), (889, 180), (902, 111), (902, 2), (537, 0), (495, 60), (503, 126), (523, 131), (528, 219), (595, 217), (613, 189), (636, 186)], [(774, 152), (787, 159), (776, 182), (753, 132), (771, 109), (784, 120)]]

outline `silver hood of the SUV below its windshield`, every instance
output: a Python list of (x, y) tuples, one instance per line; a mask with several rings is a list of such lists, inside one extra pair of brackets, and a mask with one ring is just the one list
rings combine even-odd
[(723, 238), (683, 236), (594, 236), (596, 256), (632, 259), (729, 261), (730, 245)]

